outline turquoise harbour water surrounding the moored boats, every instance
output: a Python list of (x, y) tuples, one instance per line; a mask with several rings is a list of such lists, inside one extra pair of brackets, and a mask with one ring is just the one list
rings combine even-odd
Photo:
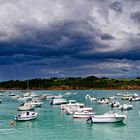
[[(109, 97), (119, 91), (116, 90), (72, 90), (72, 91), (36, 91), (38, 94), (51, 93), (63, 94), (71, 92), (73, 94), (66, 96), (66, 99), (76, 99), (87, 106), (92, 106), (96, 113), (105, 113), (111, 108), (109, 105), (98, 105), (97, 103), (85, 100), (86, 94), (94, 95), (96, 98)], [(140, 91), (127, 91), (128, 93), (138, 93)], [(0, 99), (0, 140), (139, 140), (140, 139), (140, 101), (129, 102), (118, 100), (121, 103), (134, 105), (134, 109), (123, 111), (128, 117), (123, 123), (109, 124), (89, 124), (82, 119), (73, 119), (60, 111), (58, 106), (50, 106), (49, 101), (45, 100), (41, 108), (35, 111), (39, 116), (34, 121), (15, 122), (10, 126), (9, 122), (18, 112), (17, 107), (20, 102), (11, 99), (9, 92), (4, 93)], [(21, 94), (18, 93), (17, 94)], [(115, 109), (116, 110), (116, 109)], [(118, 110), (116, 110), (118, 111)]]

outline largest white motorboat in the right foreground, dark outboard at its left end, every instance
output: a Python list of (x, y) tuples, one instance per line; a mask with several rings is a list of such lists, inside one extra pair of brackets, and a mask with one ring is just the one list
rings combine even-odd
[(122, 122), (125, 118), (126, 115), (122, 115), (110, 111), (103, 115), (94, 115), (88, 118), (87, 121), (91, 121), (92, 123), (115, 123), (115, 122)]

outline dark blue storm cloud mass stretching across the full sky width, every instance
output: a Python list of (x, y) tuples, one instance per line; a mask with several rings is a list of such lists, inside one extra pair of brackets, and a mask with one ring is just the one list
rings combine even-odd
[[(0, 56), (2, 56), (0, 64), (28, 63), (36, 60), (41, 61), (45, 58), (62, 60), (65, 57), (73, 61), (75, 59), (140, 59), (138, 53), (140, 50), (137, 46), (135, 46), (137, 49), (126, 52), (97, 52), (96, 48), (108, 46), (100, 43), (96, 38), (101, 38), (103, 41), (111, 41), (115, 38), (111, 34), (95, 31), (87, 22), (59, 23), (51, 25), (47, 29), (23, 26), (19, 30), (23, 33), (22, 39), (14, 39), (9, 43), (0, 44)], [(137, 41), (139, 40), (135, 40), (135, 44)], [(132, 43), (134, 44), (133, 39)]]

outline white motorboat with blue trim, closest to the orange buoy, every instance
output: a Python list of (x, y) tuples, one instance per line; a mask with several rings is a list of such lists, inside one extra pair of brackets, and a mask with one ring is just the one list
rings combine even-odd
[(36, 119), (38, 116), (37, 112), (23, 112), (21, 114), (18, 114), (14, 117), (14, 120), (16, 121), (29, 121), (29, 120), (34, 120)]

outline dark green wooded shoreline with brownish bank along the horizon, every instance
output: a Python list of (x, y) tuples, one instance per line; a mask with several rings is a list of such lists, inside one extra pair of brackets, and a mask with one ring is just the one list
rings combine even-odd
[(11, 80), (0, 82), (0, 89), (26, 90), (29, 83), (30, 89), (140, 89), (140, 78), (135, 79), (110, 79), (89, 77), (68, 78), (39, 78), (31, 80)]

